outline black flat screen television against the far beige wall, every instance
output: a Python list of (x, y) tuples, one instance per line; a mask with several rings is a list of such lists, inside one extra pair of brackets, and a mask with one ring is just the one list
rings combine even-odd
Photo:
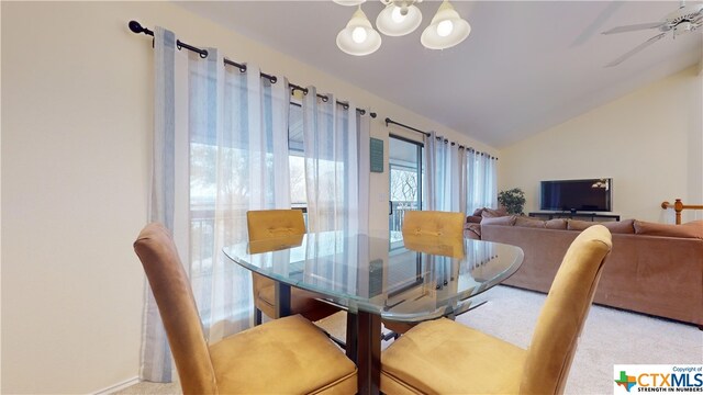
[(539, 210), (613, 211), (613, 179), (542, 181)]

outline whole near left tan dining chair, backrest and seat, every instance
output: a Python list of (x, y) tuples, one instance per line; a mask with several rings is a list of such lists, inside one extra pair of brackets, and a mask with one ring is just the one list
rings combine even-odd
[(164, 321), (183, 394), (354, 394), (357, 370), (301, 316), (209, 346), (168, 230), (149, 224), (134, 242)]

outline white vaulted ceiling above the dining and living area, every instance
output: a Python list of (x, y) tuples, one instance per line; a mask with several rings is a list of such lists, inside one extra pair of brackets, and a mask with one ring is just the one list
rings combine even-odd
[[(439, 2), (425, 0), (415, 32), (382, 36), (381, 48), (364, 57), (336, 47), (354, 8), (332, 1), (178, 4), (496, 148), (695, 65), (703, 46), (700, 32), (676, 40), (669, 33), (620, 66), (603, 67), (658, 31), (600, 32), (657, 22), (679, 1), (453, 1), (471, 34), (431, 50), (420, 35)], [(368, 0), (362, 9), (375, 24), (382, 4)]]

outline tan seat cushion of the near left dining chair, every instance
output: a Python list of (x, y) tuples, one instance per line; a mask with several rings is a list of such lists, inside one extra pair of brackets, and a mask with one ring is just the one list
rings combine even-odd
[(221, 394), (354, 394), (356, 366), (313, 324), (290, 316), (210, 347)]

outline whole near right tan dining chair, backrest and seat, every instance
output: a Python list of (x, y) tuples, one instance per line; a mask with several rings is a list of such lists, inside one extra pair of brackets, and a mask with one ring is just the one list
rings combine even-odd
[(409, 330), (381, 356), (387, 394), (560, 394), (611, 250), (602, 225), (567, 250), (527, 350), (446, 318)]

